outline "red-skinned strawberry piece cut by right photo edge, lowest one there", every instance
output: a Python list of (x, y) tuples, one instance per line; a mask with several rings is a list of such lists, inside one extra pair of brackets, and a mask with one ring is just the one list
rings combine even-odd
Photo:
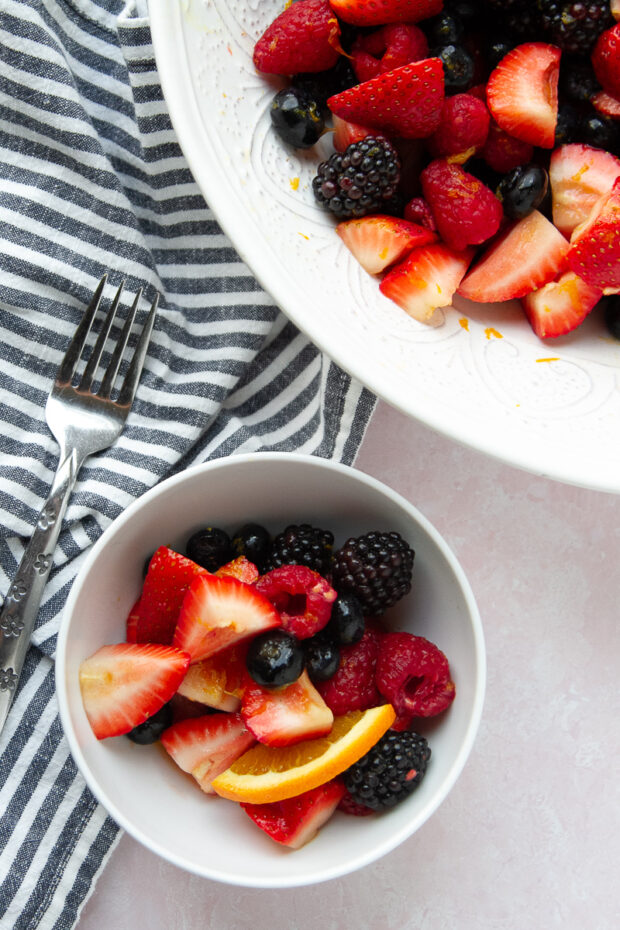
[(588, 284), (620, 287), (620, 178), (573, 232), (568, 264)]

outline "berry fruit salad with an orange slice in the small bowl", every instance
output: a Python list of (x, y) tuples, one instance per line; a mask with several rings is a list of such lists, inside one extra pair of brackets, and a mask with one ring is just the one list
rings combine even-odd
[(156, 550), (125, 642), (80, 665), (97, 739), (159, 743), (196, 791), (293, 849), (336, 810), (409, 797), (431, 758), (419, 730), (455, 686), (437, 645), (389, 626), (410, 596), (408, 542), (373, 530), (335, 548), (308, 523), (248, 523), (205, 526), (184, 553)]

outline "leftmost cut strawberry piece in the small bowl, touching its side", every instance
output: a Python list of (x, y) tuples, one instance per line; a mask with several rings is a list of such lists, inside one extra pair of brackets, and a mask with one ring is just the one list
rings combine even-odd
[(172, 646), (102, 646), (80, 665), (84, 710), (97, 739), (129, 733), (170, 700), (189, 656)]

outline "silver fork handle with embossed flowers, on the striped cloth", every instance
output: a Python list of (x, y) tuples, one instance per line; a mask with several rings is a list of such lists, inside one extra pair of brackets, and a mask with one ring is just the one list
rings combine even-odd
[(75, 452), (59, 463), (49, 497), (0, 611), (0, 731), (15, 695), (52, 567), (60, 525), (81, 464)]

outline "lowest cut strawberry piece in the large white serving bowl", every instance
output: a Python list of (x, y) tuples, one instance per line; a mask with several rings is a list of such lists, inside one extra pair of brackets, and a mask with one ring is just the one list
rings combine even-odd
[(521, 304), (536, 335), (547, 339), (564, 336), (579, 326), (602, 296), (600, 288), (567, 271), (557, 281), (526, 294)]

